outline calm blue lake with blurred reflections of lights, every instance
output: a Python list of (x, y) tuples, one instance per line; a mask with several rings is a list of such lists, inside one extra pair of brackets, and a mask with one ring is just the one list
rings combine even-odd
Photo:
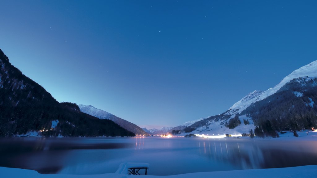
[(0, 138), (0, 166), (42, 174), (114, 173), (147, 162), (148, 175), (317, 164), (317, 142), (236, 138)]

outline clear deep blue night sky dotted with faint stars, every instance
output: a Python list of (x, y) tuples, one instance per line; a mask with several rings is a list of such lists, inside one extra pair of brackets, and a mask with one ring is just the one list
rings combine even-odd
[(317, 60), (317, 1), (0, 0), (0, 48), (60, 102), (139, 126), (221, 114)]

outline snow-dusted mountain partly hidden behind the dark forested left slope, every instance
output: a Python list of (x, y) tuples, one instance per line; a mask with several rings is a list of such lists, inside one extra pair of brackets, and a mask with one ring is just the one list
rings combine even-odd
[(142, 130), (139, 126), (129, 121), (126, 121), (124, 119), (118, 118), (117, 116), (110, 114), (109, 112), (103, 111), (101, 109), (97, 109), (92, 105), (79, 104), (78, 106), (81, 112), (84, 112), (96, 118), (111, 120), (115, 122), (116, 124), (120, 125), (121, 127), (125, 128), (126, 130), (133, 132), (134, 134), (147, 135), (147, 133), (144, 130)]

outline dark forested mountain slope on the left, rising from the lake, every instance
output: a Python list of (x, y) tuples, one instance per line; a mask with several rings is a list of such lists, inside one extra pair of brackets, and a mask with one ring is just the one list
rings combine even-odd
[(134, 136), (110, 120), (59, 103), (42, 86), (10, 64), (0, 49), (0, 136), (36, 133), (41, 136)]

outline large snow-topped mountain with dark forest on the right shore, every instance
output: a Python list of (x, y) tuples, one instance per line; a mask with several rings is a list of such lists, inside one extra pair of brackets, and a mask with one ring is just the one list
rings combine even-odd
[(316, 102), (317, 60), (295, 70), (273, 88), (250, 92), (220, 115), (187, 122), (191, 125), (173, 129), (242, 134), (257, 127), (267, 136), (275, 137), (275, 131), (316, 127)]

